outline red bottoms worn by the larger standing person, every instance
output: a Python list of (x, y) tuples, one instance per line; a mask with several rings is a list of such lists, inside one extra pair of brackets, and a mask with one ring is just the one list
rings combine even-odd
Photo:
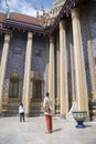
[(46, 132), (52, 132), (52, 115), (45, 115), (45, 122), (46, 122)]

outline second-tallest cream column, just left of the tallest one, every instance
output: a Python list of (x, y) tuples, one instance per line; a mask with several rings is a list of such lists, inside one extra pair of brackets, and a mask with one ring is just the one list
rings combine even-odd
[(67, 55), (66, 55), (66, 33), (65, 21), (60, 21), (60, 97), (61, 117), (65, 117), (68, 111), (67, 92)]

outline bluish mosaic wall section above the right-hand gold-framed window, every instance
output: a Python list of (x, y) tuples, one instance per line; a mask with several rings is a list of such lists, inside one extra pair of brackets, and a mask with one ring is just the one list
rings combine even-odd
[(33, 37), (33, 48), (32, 48), (32, 60), (31, 60), (31, 76), (34, 75), (35, 70), (38, 70), (42, 76), (45, 79), (45, 55), (46, 55), (46, 38), (43, 35)]

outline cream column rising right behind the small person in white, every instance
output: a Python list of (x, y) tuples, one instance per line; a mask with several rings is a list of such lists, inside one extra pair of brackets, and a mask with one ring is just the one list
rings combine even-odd
[(23, 105), (25, 106), (25, 115), (29, 115), (30, 106), (30, 84), (31, 84), (31, 55), (32, 55), (32, 39), (33, 33), (28, 32), (25, 66), (24, 66), (24, 82), (23, 82)]

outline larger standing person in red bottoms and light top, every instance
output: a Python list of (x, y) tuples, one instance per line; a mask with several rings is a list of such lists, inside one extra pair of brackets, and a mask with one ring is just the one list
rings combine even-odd
[(45, 115), (46, 133), (52, 133), (52, 106), (49, 97), (49, 92), (46, 92), (46, 95), (44, 97), (43, 110)]

